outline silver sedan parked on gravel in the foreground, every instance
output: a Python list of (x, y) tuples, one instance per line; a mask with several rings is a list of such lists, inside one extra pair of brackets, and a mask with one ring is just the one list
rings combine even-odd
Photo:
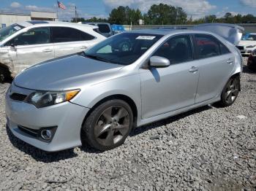
[(234, 103), (242, 58), (207, 31), (142, 30), (116, 34), (15, 77), (6, 94), (7, 126), (48, 152), (121, 145), (131, 130), (219, 102)]

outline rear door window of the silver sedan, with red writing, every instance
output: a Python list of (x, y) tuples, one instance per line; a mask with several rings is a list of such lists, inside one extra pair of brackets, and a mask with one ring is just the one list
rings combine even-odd
[(195, 44), (198, 58), (210, 58), (221, 55), (219, 42), (212, 36), (197, 34), (195, 35)]

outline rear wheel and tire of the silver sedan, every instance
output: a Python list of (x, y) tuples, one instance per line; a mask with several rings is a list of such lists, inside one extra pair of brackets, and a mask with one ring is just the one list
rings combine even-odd
[(220, 106), (231, 106), (238, 97), (240, 90), (240, 79), (239, 77), (231, 77), (225, 87), (222, 90)]

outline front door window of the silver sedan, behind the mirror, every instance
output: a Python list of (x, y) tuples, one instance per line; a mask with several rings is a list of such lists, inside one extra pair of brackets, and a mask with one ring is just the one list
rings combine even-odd
[(168, 39), (154, 55), (167, 58), (170, 64), (192, 61), (192, 45), (189, 36), (181, 35)]

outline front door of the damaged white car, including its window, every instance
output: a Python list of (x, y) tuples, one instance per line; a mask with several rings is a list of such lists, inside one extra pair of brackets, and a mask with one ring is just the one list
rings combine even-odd
[(10, 58), (16, 74), (34, 63), (54, 58), (48, 27), (32, 28), (15, 36), (5, 46), (10, 47)]

